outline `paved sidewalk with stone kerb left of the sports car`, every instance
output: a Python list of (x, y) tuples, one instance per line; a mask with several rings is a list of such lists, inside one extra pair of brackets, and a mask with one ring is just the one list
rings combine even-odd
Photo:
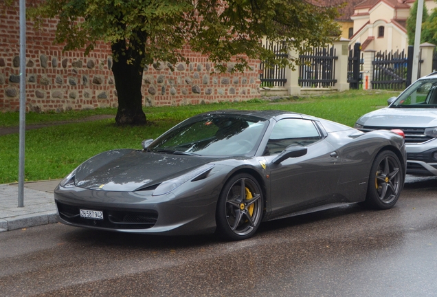
[(18, 184), (0, 184), (0, 232), (56, 223), (53, 190), (61, 179), (24, 184), (24, 207), (18, 207)]

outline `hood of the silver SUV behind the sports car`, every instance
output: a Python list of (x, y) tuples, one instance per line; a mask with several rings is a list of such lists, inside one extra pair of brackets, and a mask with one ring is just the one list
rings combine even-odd
[(357, 124), (388, 128), (427, 128), (437, 126), (437, 110), (383, 108), (363, 115)]

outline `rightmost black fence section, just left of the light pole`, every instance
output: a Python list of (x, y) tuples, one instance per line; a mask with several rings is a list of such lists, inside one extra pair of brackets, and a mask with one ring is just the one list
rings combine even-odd
[(407, 55), (402, 52), (378, 52), (374, 56), (372, 89), (405, 89)]

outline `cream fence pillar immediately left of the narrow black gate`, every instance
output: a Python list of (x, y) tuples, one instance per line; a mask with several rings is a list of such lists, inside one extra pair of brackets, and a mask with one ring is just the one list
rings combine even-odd
[(337, 61), (335, 61), (335, 83), (334, 88), (338, 91), (347, 91), (349, 89), (348, 83), (348, 39), (340, 39), (340, 41), (335, 41), (334, 48), (337, 54)]

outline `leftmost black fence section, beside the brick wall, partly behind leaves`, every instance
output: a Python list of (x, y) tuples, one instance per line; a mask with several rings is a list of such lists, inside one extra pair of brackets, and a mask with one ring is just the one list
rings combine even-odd
[[(266, 41), (262, 44), (267, 50), (272, 50), (276, 54), (276, 58), (288, 58), (288, 54), (282, 52), (282, 43), (273, 43)], [(284, 87), (287, 83), (287, 78), (285, 78), (285, 68), (275, 65), (274, 67), (266, 67), (264, 62), (260, 63), (260, 69), (262, 73), (260, 74), (261, 87)]]

